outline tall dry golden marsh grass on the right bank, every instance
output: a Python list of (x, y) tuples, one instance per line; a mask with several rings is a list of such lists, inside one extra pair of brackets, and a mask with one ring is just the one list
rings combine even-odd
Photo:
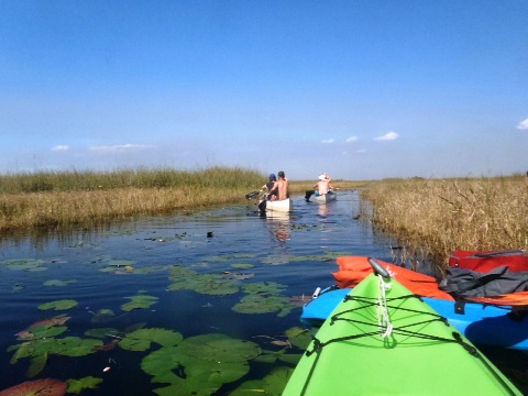
[(365, 213), (410, 251), (447, 264), (454, 250), (528, 249), (528, 178), (376, 182)]

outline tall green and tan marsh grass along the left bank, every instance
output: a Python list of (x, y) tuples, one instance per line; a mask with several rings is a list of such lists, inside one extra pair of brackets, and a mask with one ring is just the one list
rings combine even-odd
[(92, 227), (244, 199), (265, 176), (241, 168), (122, 169), (0, 176), (0, 230)]

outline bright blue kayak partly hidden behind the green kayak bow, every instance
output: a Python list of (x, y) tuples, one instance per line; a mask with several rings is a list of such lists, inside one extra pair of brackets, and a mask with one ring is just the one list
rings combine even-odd
[[(328, 288), (302, 308), (302, 322), (320, 327), (351, 289)], [(455, 302), (438, 298), (422, 297), (429, 306), (471, 342), (483, 345), (497, 345), (528, 350), (528, 316), (512, 314), (512, 307), (465, 302), (464, 314), (455, 312)]]

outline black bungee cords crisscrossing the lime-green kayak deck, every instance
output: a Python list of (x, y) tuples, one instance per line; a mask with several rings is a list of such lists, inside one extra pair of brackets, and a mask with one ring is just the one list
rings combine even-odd
[[(509, 387), (509, 385), (504, 381), (504, 378), (497, 373), (496, 369), (494, 369), (492, 365), (490, 365), (490, 363), (486, 359), (483, 359), (483, 356), (481, 355), (481, 353), (479, 352), (479, 350), (475, 346), (465, 342), (465, 340), (462, 339), (462, 336), (458, 331), (452, 331), (452, 333), (451, 333), (452, 338), (450, 339), (450, 338), (426, 334), (426, 333), (420, 333), (420, 332), (417, 332), (417, 331), (408, 330), (409, 327), (416, 327), (416, 326), (420, 326), (420, 329), (421, 329), (422, 328), (421, 324), (430, 323), (430, 322), (433, 322), (433, 321), (441, 321), (446, 326), (451, 326), (451, 324), (449, 323), (447, 318), (442, 317), (439, 314), (425, 312), (425, 311), (421, 311), (421, 310), (407, 309), (407, 308), (402, 308), (402, 307), (391, 305), (391, 302), (394, 302), (394, 301), (400, 300), (400, 299), (407, 299), (407, 298), (418, 298), (420, 301), (424, 301), (421, 299), (421, 297), (418, 296), (418, 295), (406, 295), (406, 296), (400, 296), (400, 297), (396, 297), (396, 298), (387, 298), (387, 307), (399, 309), (399, 310), (405, 310), (405, 311), (408, 311), (408, 312), (425, 314), (425, 315), (428, 315), (430, 317), (430, 319), (429, 320), (417, 321), (417, 322), (414, 322), (414, 323), (409, 323), (407, 326), (394, 327), (393, 328), (393, 333), (402, 334), (402, 336), (408, 336), (408, 337), (416, 337), (416, 338), (419, 338), (419, 339), (426, 339), (426, 340), (432, 340), (432, 341), (458, 343), (463, 349), (465, 349), (472, 356), (474, 356), (476, 359), (481, 359), (482, 362), (494, 374), (496, 380), (499, 381), (503, 384), (503, 386), (506, 389), (509, 391), (510, 395), (516, 395), (516, 392)], [(342, 315), (348, 314), (348, 312), (353, 312), (353, 311), (358, 311), (358, 310), (361, 310), (361, 309), (365, 309), (367, 307), (375, 306), (375, 305), (377, 305), (377, 299), (369, 298), (369, 297), (361, 297), (361, 296), (345, 296), (344, 301), (349, 301), (349, 300), (360, 301), (364, 305), (361, 306), (361, 307), (358, 307), (358, 308), (349, 309), (349, 310), (341, 311), (339, 314), (332, 315), (329, 318), (330, 319), (330, 326), (333, 326), (333, 323), (338, 320), (344, 320), (344, 321), (351, 322), (351, 323), (362, 323), (362, 324), (371, 326), (375, 329), (374, 329), (374, 331), (371, 331), (371, 332), (364, 332), (364, 333), (361, 333), (361, 334), (346, 336), (346, 337), (339, 337), (339, 338), (330, 339), (326, 342), (321, 342), (317, 337), (312, 336), (311, 337), (312, 341), (314, 341), (312, 342), (312, 348), (310, 350), (307, 350), (305, 353), (306, 353), (307, 356), (310, 356), (314, 353), (317, 353), (317, 355), (316, 355), (316, 359), (314, 361), (314, 364), (311, 365), (311, 369), (310, 369), (310, 372), (308, 374), (307, 381), (305, 382), (305, 385), (302, 386), (302, 391), (300, 393), (301, 395), (305, 395), (306, 389), (308, 388), (308, 385), (310, 383), (310, 378), (314, 374), (317, 362), (318, 362), (324, 346), (327, 346), (328, 344), (334, 343), (334, 342), (350, 341), (350, 340), (355, 340), (355, 339), (360, 339), (360, 338), (364, 338), (364, 337), (373, 337), (373, 336), (378, 336), (380, 334), (380, 329), (378, 329), (377, 323), (365, 322), (365, 321), (356, 320), (356, 319), (346, 319), (346, 318), (341, 317)], [(424, 304), (426, 304), (426, 302), (424, 302)]]

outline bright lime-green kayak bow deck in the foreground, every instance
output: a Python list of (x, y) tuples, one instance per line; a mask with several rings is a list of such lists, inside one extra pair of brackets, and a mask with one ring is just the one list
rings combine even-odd
[[(385, 302), (376, 302), (382, 295)], [(426, 302), (397, 280), (371, 274), (338, 305), (299, 361), (283, 396), (299, 395), (521, 393)]]

